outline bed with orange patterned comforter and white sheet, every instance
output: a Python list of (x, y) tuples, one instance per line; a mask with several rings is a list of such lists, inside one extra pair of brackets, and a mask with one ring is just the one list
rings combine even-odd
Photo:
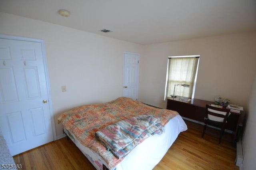
[[(120, 122), (123, 124), (127, 123), (126, 121), (138, 119), (136, 126), (132, 127), (144, 128), (144, 125), (138, 124), (142, 122), (139, 119), (142, 117), (150, 118), (151, 121), (155, 120), (154, 125), (146, 124), (150, 128), (158, 127), (158, 130), (154, 132), (159, 133), (152, 135), (153, 133), (150, 132), (149, 135), (144, 136), (139, 134), (139, 137), (143, 137), (136, 136), (135, 140), (130, 142), (134, 148), (128, 150), (124, 156), (117, 157), (115, 152), (105, 145), (106, 142), (96, 138), (98, 136), (96, 134), (105, 132), (109, 127), (116, 130)], [(62, 113), (58, 118), (58, 123), (62, 123), (67, 136), (98, 170), (153, 169), (166, 154), (178, 134), (187, 130), (185, 122), (176, 111), (158, 109), (127, 97), (120, 97), (107, 103), (76, 107)], [(109, 134), (109, 131), (106, 134)], [(120, 142), (120, 139), (117, 141)]]

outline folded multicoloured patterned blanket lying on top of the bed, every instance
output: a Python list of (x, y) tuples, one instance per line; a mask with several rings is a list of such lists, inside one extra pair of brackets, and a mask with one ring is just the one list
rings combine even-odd
[(149, 136), (162, 134), (162, 128), (159, 118), (139, 115), (102, 128), (95, 136), (114, 156), (122, 158)]

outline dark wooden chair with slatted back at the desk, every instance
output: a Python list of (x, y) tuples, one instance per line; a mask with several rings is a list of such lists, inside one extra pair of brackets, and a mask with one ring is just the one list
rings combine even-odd
[(220, 128), (220, 135), (219, 135), (219, 144), (220, 144), (229, 115), (230, 115), (230, 109), (224, 109), (224, 108), (214, 107), (211, 105), (206, 105), (206, 115), (204, 117), (204, 130), (203, 130), (202, 138), (204, 138), (204, 133), (205, 131), (207, 131), (206, 127), (208, 127), (208, 125), (217, 127), (217, 128)]

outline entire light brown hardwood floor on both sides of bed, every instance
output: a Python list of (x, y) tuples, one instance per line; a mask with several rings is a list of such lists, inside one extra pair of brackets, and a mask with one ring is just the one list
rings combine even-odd
[[(238, 170), (234, 164), (236, 148), (232, 136), (218, 137), (206, 133), (203, 126), (186, 121), (188, 130), (181, 132), (154, 170)], [(24, 170), (94, 170), (95, 168), (66, 137), (14, 156)]]

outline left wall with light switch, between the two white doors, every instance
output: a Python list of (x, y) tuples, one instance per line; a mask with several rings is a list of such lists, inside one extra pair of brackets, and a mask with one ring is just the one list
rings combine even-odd
[[(141, 53), (141, 45), (38, 20), (0, 13), (0, 34), (43, 39), (57, 136), (57, 118), (82, 104), (122, 96), (123, 52)], [(61, 86), (66, 85), (66, 92)]]

